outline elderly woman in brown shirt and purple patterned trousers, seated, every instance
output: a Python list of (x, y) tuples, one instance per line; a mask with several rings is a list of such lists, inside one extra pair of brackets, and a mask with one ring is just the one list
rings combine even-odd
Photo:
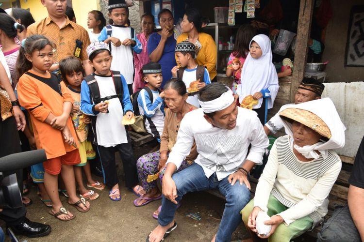
[[(192, 106), (186, 102), (188, 94), (186, 93), (186, 86), (181, 79), (167, 81), (164, 86), (164, 91), (165, 103), (168, 108), (165, 110), (165, 126), (161, 136), (161, 148), (159, 151), (141, 156), (136, 162), (138, 175), (146, 192), (143, 196), (134, 200), (136, 207), (144, 206), (151, 201), (161, 199), (162, 194), (158, 190), (156, 181), (148, 182), (148, 176), (159, 173), (159, 178), (162, 180), (165, 172), (165, 162), (167, 161), (168, 153), (176, 143), (182, 118), (186, 113), (197, 109), (196, 106)], [(178, 171), (191, 165), (196, 157), (196, 143), (194, 143), (190, 154), (183, 161)], [(154, 212), (153, 217), (158, 218), (158, 213), (158, 211)]]

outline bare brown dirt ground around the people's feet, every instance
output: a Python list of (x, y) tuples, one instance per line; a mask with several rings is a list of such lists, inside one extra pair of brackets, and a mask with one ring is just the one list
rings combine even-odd
[[(135, 157), (150, 150), (150, 146), (138, 147), (135, 150)], [(74, 220), (63, 222), (48, 212), (47, 208), (36, 195), (35, 187), (32, 187), (28, 195), (32, 198), (33, 204), (27, 207), (27, 217), (32, 221), (49, 224), (52, 227), (50, 235), (41, 238), (26, 238), (18, 236), (19, 241), (28, 242), (48, 242), (48, 241), (130, 241), (144, 242), (149, 232), (157, 226), (157, 220), (152, 217), (160, 205), (159, 201), (153, 201), (143, 207), (135, 207), (133, 200), (136, 198), (132, 192), (124, 186), (121, 160), (116, 155), (118, 164), (118, 174), (120, 177), (120, 187), (122, 200), (114, 202), (109, 199), (109, 189), (98, 191), (99, 198), (91, 201), (89, 212), (77, 212), (75, 208), (67, 204), (67, 199), (61, 196), (61, 201), (66, 209), (76, 214)], [(94, 176), (101, 181), (100, 177)], [(95, 190), (97, 191), (97, 190)], [(166, 239), (168, 242), (184, 241), (211, 241), (220, 223), (221, 215), (224, 210), (225, 201), (206, 192), (190, 193), (183, 197), (182, 206), (177, 210), (176, 222), (178, 227)], [(197, 213), (201, 217), (200, 221), (194, 220), (186, 215)], [(4, 229), (4, 224), (0, 224)], [(248, 239), (248, 233), (241, 223), (232, 235), (232, 241)], [(7, 241), (9, 237), (7, 237)], [(308, 240), (295, 240), (308, 241)]]

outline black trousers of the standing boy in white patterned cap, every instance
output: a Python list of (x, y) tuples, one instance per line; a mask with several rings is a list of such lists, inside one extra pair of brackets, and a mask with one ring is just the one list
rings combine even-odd
[(109, 187), (115, 186), (119, 179), (116, 172), (115, 152), (119, 151), (124, 167), (125, 186), (133, 187), (138, 184), (136, 159), (132, 151), (132, 143), (118, 144), (115, 147), (98, 146), (104, 182)]

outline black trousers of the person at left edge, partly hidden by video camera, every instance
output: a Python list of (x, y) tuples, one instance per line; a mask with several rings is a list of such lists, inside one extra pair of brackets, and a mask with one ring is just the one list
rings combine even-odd
[[(21, 152), (20, 140), (17, 132), (17, 125), (14, 117), (10, 117), (4, 121), (0, 119), (0, 157)], [(15, 171), (17, 173), (17, 182), (20, 191), (23, 189), (22, 170)], [(7, 226), (18, 225), (25, 219), (27, 210), (25, 207), (17, 209), (3, 209), (0, 212), (0, 219), (5, 221)]]

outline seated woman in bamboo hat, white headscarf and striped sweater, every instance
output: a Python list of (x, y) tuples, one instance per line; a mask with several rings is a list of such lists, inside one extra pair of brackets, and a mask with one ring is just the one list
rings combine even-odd
[(333, 149), (345, 145), (345, 126), (331, 99), (287, 106), (288, 135), (274, 143), (254, 199), (241, 211), (252, 239), (289, 242), (323, 220), (341, 170)]

